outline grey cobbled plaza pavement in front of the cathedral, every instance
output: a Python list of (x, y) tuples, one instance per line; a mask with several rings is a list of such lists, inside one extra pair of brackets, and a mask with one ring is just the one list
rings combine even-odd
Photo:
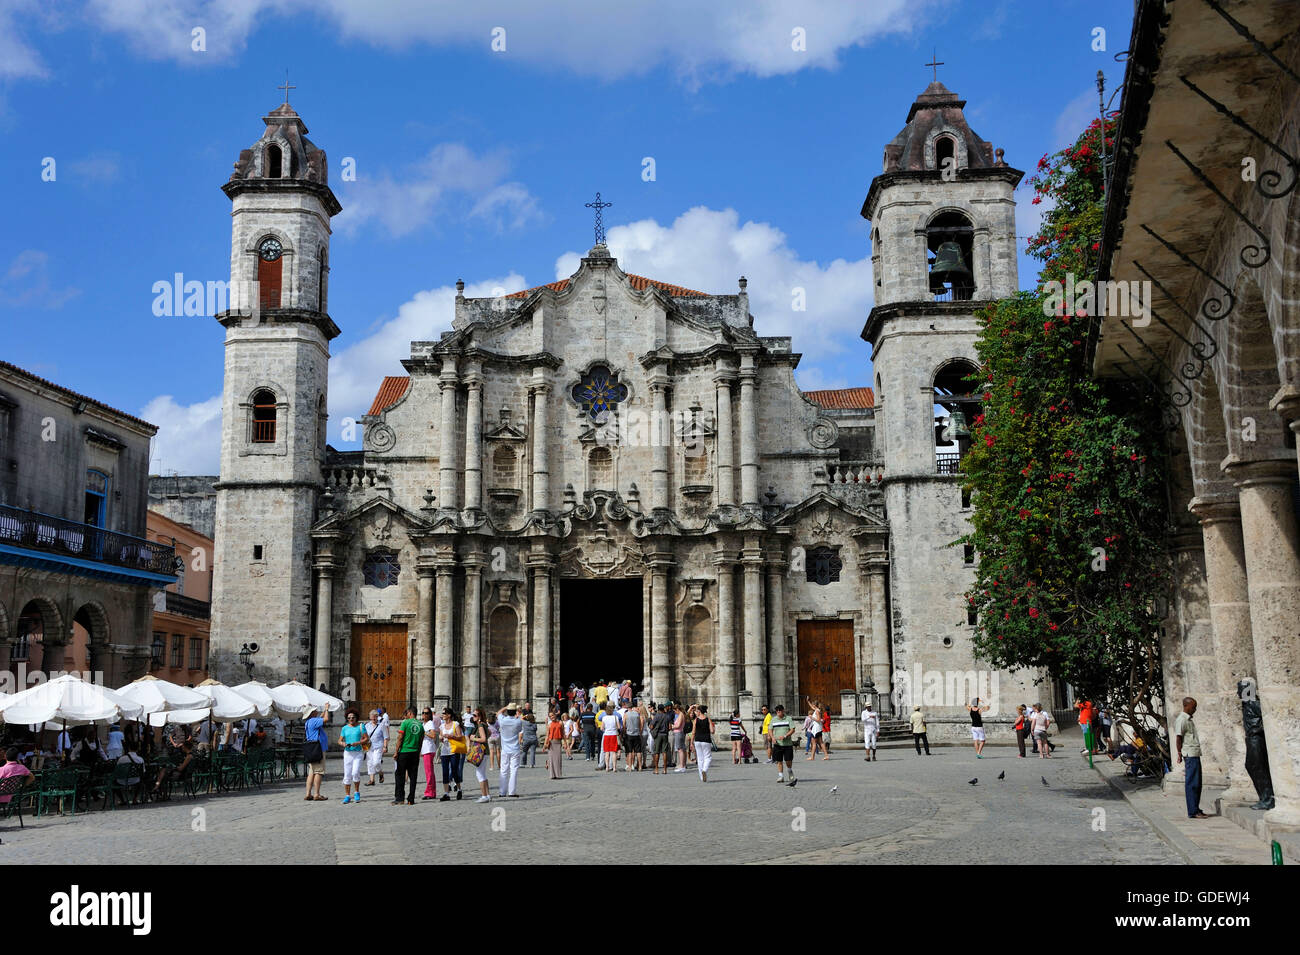
[[(1066, 752), (1062, 747), (1062, 754)], [(3, 833), (4, 863), (1078, 863), (1178, 864), (1087, 761), (1017, 759), (989, 748), (936, 747), (797, 758), (798, 786), (766, 764), (715, 755), (710, 781), (694, 770), (653, 776), (594, 770), (581, 756), (551, 781), (538, 763), (520, 798), (390, 806), (389, 785), (343, 806), (342, 764), (329, 761), (328, 803), (302, 785), (202, 799), (44, 816)], [(391, 763), (391, 760), (390, 760)], [(998, 781), (998, 773), (1006, 778)], [(472, 773), (469, 774), (473, 778)], [(1045, 776), (1044, 786), (1040, 777)], [(968, 780), (979, 778), (975, 786)], [(832, 793), (831, 789), (838, 791)], [(422, 791), (422, 783), (421, 789)], [(200, 812), (202, 811), (202, 812)], [(1098, 812), (1101, 811), (1101, 812)], [(802, 825), (801, 825), (802, 824)]]

